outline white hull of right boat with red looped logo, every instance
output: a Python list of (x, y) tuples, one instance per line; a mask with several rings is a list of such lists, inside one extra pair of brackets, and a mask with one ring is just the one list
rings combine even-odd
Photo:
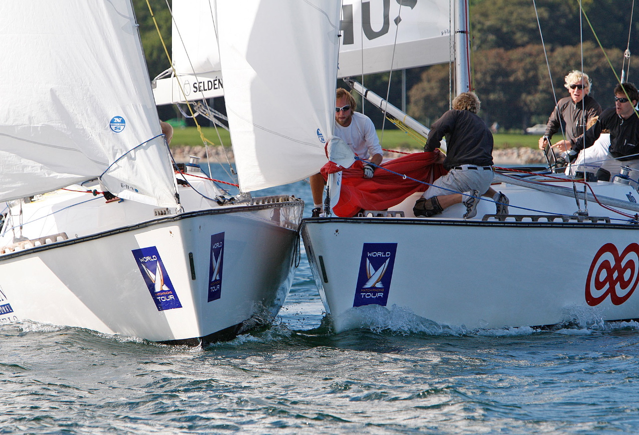
[[(620, 196), (629, 191), (618, 190)], [(511, 205), (528, 197), (553, 200), (547, 207), (571, 201), (574, 207), (574, 198), (518, 195), (516, 189), (507, 194)], [(528, 202), (532, 208), (542, 204)], [(370, 324), (366, 316), (375, 311), (366, 305), (403, 308), (441, 325), (472, 329), (544, 326), (583, 316), (639, 319), (638, 225), (482, 221), (490, 212), (482, 204), (478, 217), (467, 220), (304, 219), (306, 252), (335, 331)], [(369, 275), (380, 271), (381, 285), (366, 287)]]

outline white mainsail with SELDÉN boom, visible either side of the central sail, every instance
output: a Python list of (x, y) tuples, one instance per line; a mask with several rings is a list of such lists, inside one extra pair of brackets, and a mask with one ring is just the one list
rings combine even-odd
[[(339, 2), (336, 2), (339, 3)], [(422, 67), (454, 59), (456, 0), (343, 0), (338, 77)], [(286, 3), (282, 8), (288, 8)], [(210, 0), (173, 3), (176, 77), (158, 79), (158, 104), (223, 95)], [(465, 29), (465, 28), (464, 28)]]

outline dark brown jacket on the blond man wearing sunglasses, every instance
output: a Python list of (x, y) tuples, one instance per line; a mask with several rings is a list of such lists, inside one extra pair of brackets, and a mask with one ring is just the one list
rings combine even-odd
[(586, 95), (576, 104), (571, 97), (562, 98), (557, 102), (557, 107), (548, 118), (546, 136), (552, 138), (553, 134), (561, 131), (563, 125), (566, 139), (574, 142), (574, 139), (583, 134), (588, 120), (599, 115), (601, 115), (601, 106), (590, 95)]

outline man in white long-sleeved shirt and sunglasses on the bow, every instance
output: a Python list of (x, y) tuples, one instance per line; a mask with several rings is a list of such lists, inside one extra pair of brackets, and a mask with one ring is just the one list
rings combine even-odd
[[(357, 157), (370, 161), (373, 164), (364, 165), (364, 178), (373, 178), (375, 169), (383, 159), (380, 139), (371, 118), (356, 112), (357, 102), (351, 93), (339, 88), (335, 94), (335, 136), (344, 139), (344, 142), (353, 149)], [(318, 217), (321, 213), (322, 196), (324, 191), (324, 177), (321, 174), (309, 177), (314, 208), (312, 216)]]

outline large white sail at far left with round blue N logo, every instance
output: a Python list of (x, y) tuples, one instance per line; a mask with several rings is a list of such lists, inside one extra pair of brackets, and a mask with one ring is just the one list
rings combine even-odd
[(102, 177), (176, 205), (130, 0), (0, 2), (0, 200)]

